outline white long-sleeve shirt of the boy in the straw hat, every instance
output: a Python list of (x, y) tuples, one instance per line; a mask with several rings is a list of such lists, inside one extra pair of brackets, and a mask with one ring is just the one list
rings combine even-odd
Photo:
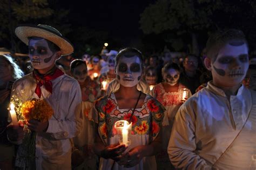
[[(71, 169), (71, 141), (82, 127), (82, 96), (77, 80), (63, 74), (51, 80), (52, 94), (44, 85), (41, 86), (42, 96), (53, 109), (46, 132), (36, 136), (36, 168), (37, 169)], [(36, 80), (28, 74), (15, 81), (12, 96), (23, 102), (32, 98), (38, 99), (35, 93)], [(21, 145), (22, 146), (22, 145)], [(19, 147), (16, 165), (21, 165)], [(26, 148), (25, 148), (26, 149)]]

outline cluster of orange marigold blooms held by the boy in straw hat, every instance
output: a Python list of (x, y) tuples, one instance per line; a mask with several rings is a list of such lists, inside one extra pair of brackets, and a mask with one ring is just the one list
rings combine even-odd
[(27, 121), (35, 119), (45, 122), (52, 117), (53, 110), (46, 100), (33, 99), (22, 104), (21, 113)]

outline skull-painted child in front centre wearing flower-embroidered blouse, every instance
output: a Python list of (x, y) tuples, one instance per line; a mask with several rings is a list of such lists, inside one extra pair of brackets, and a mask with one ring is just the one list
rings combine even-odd
[[(120, 87), (99, 99), (95, 152), (101, 169), (156, 169), (154, 155), (160, 151), (161, 120), (164, 107), (148, 94), (137, 90), (143, 74), (142, 54), (133, 48), (119, 51), (116, 73)], [(114, 123), (132, 123), (131, 144), (119, 144)]]

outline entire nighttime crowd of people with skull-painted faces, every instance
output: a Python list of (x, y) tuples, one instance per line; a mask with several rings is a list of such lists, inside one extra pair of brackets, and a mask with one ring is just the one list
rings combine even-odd
[[(0, 169), (256, 168), (256, 63), (240, 30), (217, 31), (201, 56), (126, 47), (72, 57), (49, 25), (15, 33), (29, 59), (0, 55)], [(17, 99), (45, 100), (53, 114), (14, 124)], [(129, 145), (119, 120), (132, 124)]]

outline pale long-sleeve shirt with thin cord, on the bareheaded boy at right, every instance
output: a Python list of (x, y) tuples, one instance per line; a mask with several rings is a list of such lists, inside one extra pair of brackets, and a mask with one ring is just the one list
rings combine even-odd
[[(172, 164), (181, 169), (248, 169), (256, 154), (256, 102), (252, 103), (252, 95), (256, 93), (242, 85), (228, 100), (210, 81), (189, 98), (177, 112), (172, 128), (168, 147)], [(244, 124), (238, 139), (224, 153)]]

